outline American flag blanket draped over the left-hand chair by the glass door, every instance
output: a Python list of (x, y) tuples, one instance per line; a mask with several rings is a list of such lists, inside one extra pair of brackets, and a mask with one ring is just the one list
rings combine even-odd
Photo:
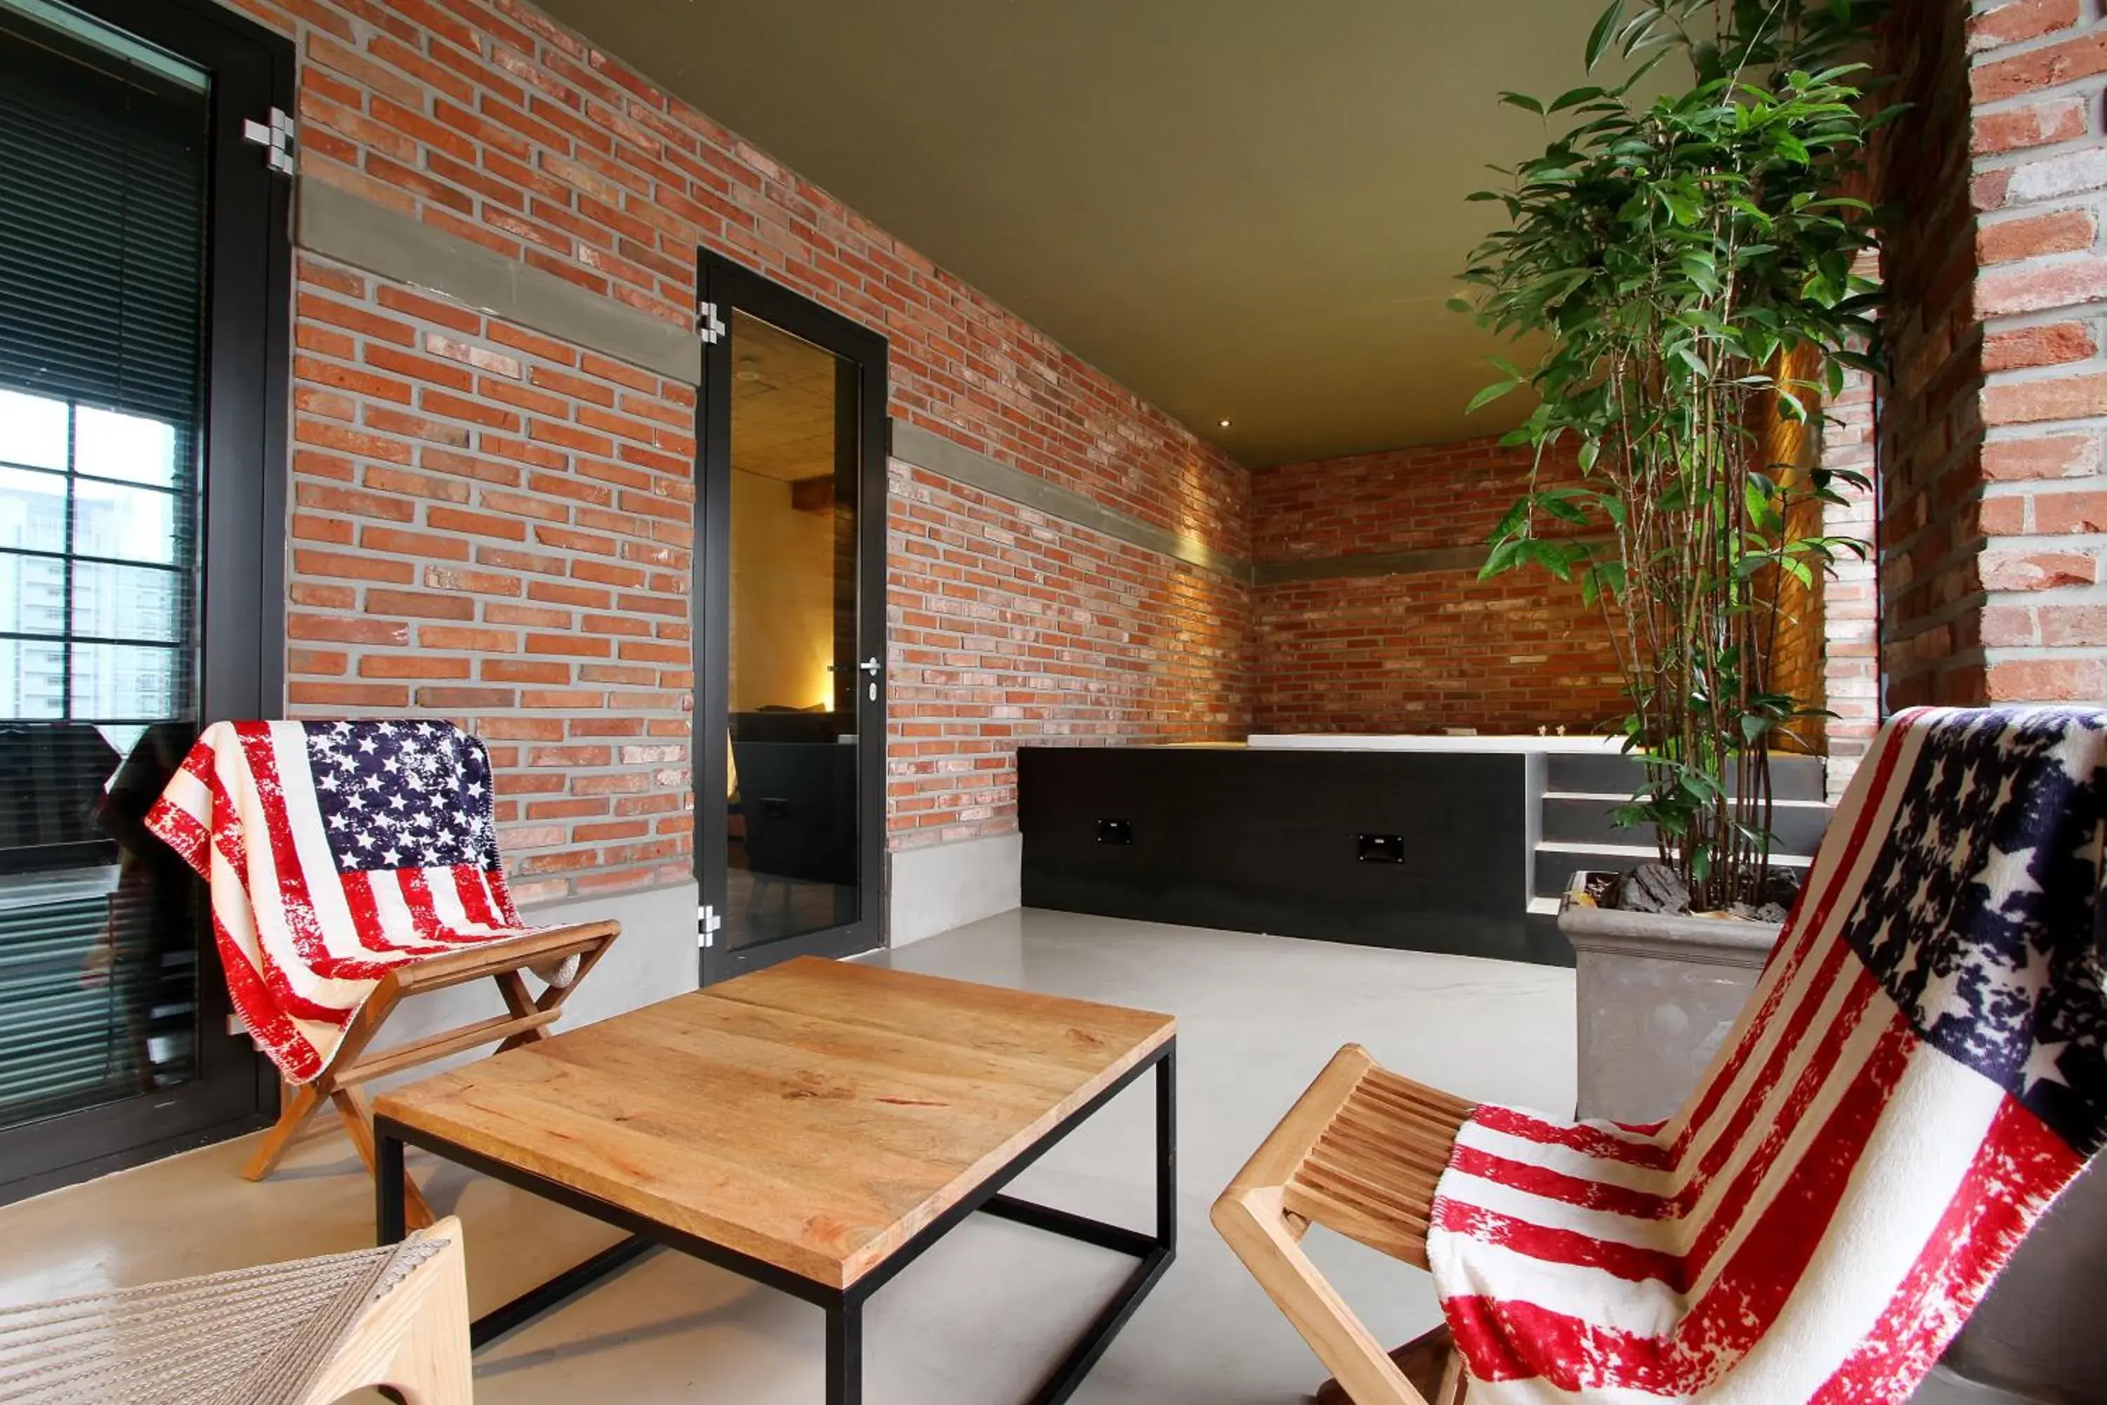
[(211, 887), (234, 1011), (291, 1083), (390, 967), (520, 925), (491, 760), (447, 723), (213, 723), (147, 811)]

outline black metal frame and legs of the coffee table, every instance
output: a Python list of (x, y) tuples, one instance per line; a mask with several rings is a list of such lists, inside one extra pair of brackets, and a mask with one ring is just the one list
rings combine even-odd
[[(402, 1203), (402, 1148), (417, 1146), (421, 1150), (434, 1152), (455, 1165), (464, 1165), (472, 1171), (483, 1171), (493, 1180), (518, 1186), (531, 1194), (537, 1194), (556, 1205), (579, 1211), (582, 1215), (592, 1215), (615, 1228), (630, 1232), (622, 1243), (594, 1253), (584, 1264), (569, 1268), (548, 1283), (533, 1287), (501, 1308), (495, 1308), (474, 1321), (470, 1327), (470, 1342), (474, 1346), (485, 1346), (506, 1335), (508, 1331), (527, 1325), (541, 1312), (563, 1304), (571, 1295), (592, 1287), (600, 1279), (619, 1270), (630, 1260), (643, 1255), (653, 1247), (678, 1249), (681, 1253), (691, 1253), (706, 1264), (716, 1264), (718, 1268), (729, 1268), (735, 1274), (773, 1287), (777, 1291), (790, 1293), (792, 1298), (803, 1298), (805, 1302), (826, 1308), (826, 1405), (860, 1405), (864, 1399), (864, 1302), (885, 1287), (893, 1274), (921, 1258), (929, 1245), (944, 1239), (952, 1228), (976, 1211), (986, 1211), (1001, 1220), (1013, 1220), (1018, 1224), (1028, 1224), (1054, 1234), (1064, 1234), (1066, 1239), (1077, 1239), (1087, 1245), (1098, 1245), (1100, 1249), (1112, 1249), (1117, 1253), (1129, 1253), (1140, 1260), (1134, 1274), (1125, 1281), (1119, 1293), (1108, 1302), (1089, 1327), (1068, 1350), (1068, 1354), (1054, 1367), (1039, 1390), (1030, 1397), (1028, 1405), (1060, 1405), (1075, 1388), (1083, 1384), (1083, 1378), (1098, 1363), (1098, 1357), (1112, 1344), (1119, 1329), (1127, 1325), (1134, 1310), (1148, 1295), (1148, 1289), (1157, 1285), (1163, 1270), (1169, 1268), (1171, 1258), (1178, 1253), (1178, 1074), (1176, 1074), (1176, 1038), (1163, 1041), (1153, 1049), (1140, 1064), (1129, 1068), (1106, 1087), (1102, 1093), (1091, 1097), (1087, 1104), (1070, 1112), (1058, 1127), (1018, 1152), (1009, 1165), (990, 1175), (986, 1182), (973, 1188), (963, 1201), (946, 1209), (942, 1215), (931, 1220), (927, 1226), (917, 1230), (904, 1245), (893, 1249), (881, 1264), (864, 1272), (855, 1283), (847, 1287), (832, 1287), (826, 1283), (815, 1283), (803, 1274), (794, 1274), (775, 1264), (767, 1264), (737, 1249), (727, 1249), (725, 1245), (687, 1234), (672, 1226), (659, 1224), (649, 1215), (611, 1205), (598, 1196), (586, 1194), (563, 1186), (546, 1175), (520, 1169), (516, 1165), (497, 1161), (483, 1152), (474, 1152), (457, 1142), (438, 1137), (415, 1127), (407, 1127), (388, 1116), (373, 1119), (373, 1144), (375, 1144), (375, 1222), (377, 1239), (383, 1245), (398, 1243), (407, 1232)], [(1131, 1087), (1150, 1068), (1157, 1070), (1157, 1230), (1155, 1234), (1144, 1234), (1140, 1230), (1129, 1230), (1117, 1224), (1104, 1224), (1100, 1220), (1087, 1220), (1083, 1215), (1070, 1213), (1066, 1209), (1054, 1209), (1047, 1205), (1032, 1205), (1030, 1201), (1018, 1201), (1013, 1196), (1001, 1194), (1003, 1186), (1024, 1173), (1039, 1156), (1054, 1148), (1062, 1137), (1081, 1127), (1098, 1108), (1108, 1104), (1121, 1091)]]

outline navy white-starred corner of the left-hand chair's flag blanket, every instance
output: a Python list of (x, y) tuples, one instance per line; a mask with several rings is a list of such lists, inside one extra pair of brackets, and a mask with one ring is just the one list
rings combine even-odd
[(434, 723), (308, 723), (308, 767), (339, 872), (497, 868), (491, 763)]

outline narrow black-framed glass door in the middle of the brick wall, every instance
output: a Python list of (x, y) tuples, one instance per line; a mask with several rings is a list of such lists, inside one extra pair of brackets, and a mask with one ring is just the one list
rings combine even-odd
[[(704, 982), (881, 946), (885, 341), (704, 255)], [(714, 341), (710, 335), (714, 333)]]

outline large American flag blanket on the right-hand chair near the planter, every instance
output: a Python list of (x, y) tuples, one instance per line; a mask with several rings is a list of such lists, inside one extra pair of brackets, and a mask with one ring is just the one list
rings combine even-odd
[(1907, 1401), (2107, 1131), (2103, 828), (2107, 712), (1888, 723), (1675, 1119), (1462, 1127), (1473, 1405)]

